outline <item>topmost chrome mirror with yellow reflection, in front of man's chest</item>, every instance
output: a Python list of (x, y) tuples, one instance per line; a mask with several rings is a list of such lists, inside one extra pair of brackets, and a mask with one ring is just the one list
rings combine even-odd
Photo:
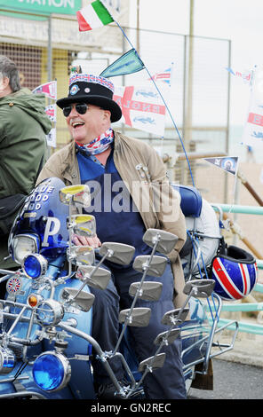
[(60, 201), (70, 204), (71, 201), (85, 207), (91, 205), (91, 191), (88, 185), (69, 185), (60, 189)]

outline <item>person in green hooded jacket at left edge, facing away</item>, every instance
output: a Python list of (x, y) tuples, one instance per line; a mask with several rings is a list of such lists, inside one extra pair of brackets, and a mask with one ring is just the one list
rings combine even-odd
[[(15, 63), (0, 55), (0, 199), (32, 191), (46, 161), (45, 135), (51, 128), (52, 122), (44, 112), (44, 94), (21, 88)], [(11, 258), (4, 260), (8, 256), (7, 241), (8, 235), (1, 236), (0, 268), (19, 268)]]

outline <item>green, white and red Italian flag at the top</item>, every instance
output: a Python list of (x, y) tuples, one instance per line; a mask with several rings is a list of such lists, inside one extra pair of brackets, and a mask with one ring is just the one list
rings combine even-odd
[(101, 28), (114, 21), (100, 0), (95, 0), (92, 4), (88, 4), (79, 12), (76, 12), (76, 19), (80, 32)]

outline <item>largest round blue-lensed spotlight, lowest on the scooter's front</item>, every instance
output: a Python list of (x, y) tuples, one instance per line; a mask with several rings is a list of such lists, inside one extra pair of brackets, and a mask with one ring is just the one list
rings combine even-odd
[(36, 358), (32, 373), (39, 388), (45, 391), (56, 391), (68, 384), (71, 366), (68, 358), (62, 353), (46, 351)]

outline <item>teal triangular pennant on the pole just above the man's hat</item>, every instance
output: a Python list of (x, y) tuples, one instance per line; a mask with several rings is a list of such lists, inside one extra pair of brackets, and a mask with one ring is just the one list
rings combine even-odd
[(134, 48), (124, 53), (120, 58), (116, 59), (109, 67), (104, 69), (100, 76), (106, 78), (116, 75), (127, 75), (137, 73), (144, 68), (144, 63), (139, 58)]

